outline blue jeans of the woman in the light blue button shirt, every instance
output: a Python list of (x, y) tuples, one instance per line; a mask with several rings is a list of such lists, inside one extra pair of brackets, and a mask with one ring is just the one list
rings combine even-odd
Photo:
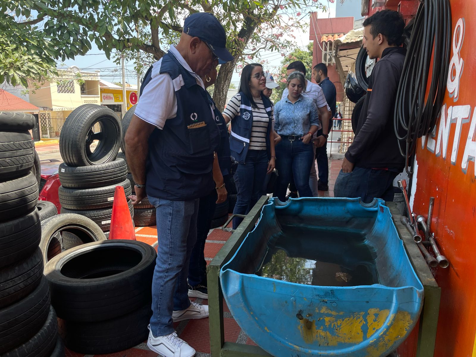
[(276, 146), (278, 182), (275, 194), (280, 201), (286, 201), (286, 191), (292, 179), (299, 197), (313, 197), (309, 187), (309, 173), (314, 164), (313, 150), (313, 144), (304, 144), (301, 140), (283, 139)]

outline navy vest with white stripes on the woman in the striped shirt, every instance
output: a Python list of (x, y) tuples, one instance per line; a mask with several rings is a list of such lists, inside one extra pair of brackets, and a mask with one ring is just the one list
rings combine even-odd
[[(235, 158), (240, 164), (245, 163), (246, 155), (248, 154), (249, 138), (251, 137), (251, 127), (253, 126), (253, 109), (251, 108), (251, 101), (243, 93), (241, 94), (240, 113), (233, 118), (230, 135), (230, 150), (231, 156)], [(261, 99), (266, 108), (269, 117), (268, 131), (266, 133), (266, 151), (268, 153), (268, 160), (271, 158), (271, 150), (269, 148), (269, 133), (272, 127), (271, 109), (273, 104), (268, 97), (261, 93)]]

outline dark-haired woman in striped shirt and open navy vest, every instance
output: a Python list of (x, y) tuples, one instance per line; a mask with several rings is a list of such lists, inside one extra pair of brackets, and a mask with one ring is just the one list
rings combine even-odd
[[(233, 96), (223, 111), (228, 123), (231, 120), (231, 156), (238, 162), (234, 178), (237, 203), (234, 214), (248, 214), (262, 194), (266, 174), (275, 167), (273, 108), (263, 95), (267, 73), (258, 63), (243, 68), (238, 94)], [(233, 219), (233, 229), (243, 218)]]

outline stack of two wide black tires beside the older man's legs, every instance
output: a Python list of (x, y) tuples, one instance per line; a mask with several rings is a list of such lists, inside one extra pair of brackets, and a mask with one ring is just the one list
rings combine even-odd
[(104, 240), (62, 252), (45, 267), (66, 347), (103, 354), (147, 339), (157, 254), (149, 244)]

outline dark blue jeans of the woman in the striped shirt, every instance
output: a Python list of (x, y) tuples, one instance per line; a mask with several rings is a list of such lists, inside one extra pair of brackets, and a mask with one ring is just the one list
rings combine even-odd
[[(264, 194), (263, 183), (268, 170), (268, 154), (266, 150), (248, 150), (245, 163), (238, 164), (235, 172), (237, 187), (237, 203), (234, 214), (246, 215)], [(243, 218), (233, 218), (233, 229), (236, 229)]]

